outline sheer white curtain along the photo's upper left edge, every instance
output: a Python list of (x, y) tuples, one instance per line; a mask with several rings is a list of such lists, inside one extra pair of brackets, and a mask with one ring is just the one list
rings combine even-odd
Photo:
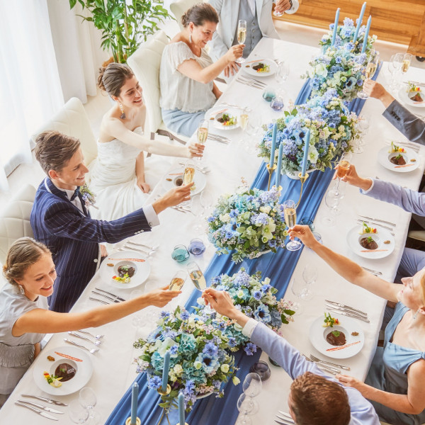
[(46, 0), (0, 2), (0, 190), (31, 162), (30, 135), (64, 99)]

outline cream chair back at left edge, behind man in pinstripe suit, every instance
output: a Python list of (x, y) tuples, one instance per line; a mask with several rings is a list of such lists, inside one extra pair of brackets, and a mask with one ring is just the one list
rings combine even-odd
[(30, 225), (35, 188), (30, 184), (23, 186), (0, 211), (0, 263), (6, 261), (6, 254), (11, 244), (20, 237), (34, 237)]

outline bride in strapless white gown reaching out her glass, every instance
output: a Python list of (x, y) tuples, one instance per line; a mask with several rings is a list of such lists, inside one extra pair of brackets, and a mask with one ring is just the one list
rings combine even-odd
[(149, 158), (145, 152), (166, 157), (202, 157), (198, 143), (176, 146), (149, 140), (143, 130), (146, 106), (142, 88), (127, 64), (111, 63), (101, 69), (98, 86), (115, 105), (103, 116), (98, 139), (98, 157), (90, 167), (90, 191), (96, 197), (95, 218), (114, 220), (142, 207), (162, 168), (169, 163)]

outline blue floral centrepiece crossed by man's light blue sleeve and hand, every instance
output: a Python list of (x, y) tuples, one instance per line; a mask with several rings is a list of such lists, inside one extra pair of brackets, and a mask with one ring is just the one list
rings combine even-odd
[[(273, 331), (278, 332), (282, 324), (293, 322), (293, 314), (295, 314), (293, 302), (277, 300), (274, 294), (278, 290), (270, 285), (269, 278), (261, 280), (261, 271), (249, 275), (242, 267), (233, 276), (222, 274), (212, 278), (210, 288), (227, 291), (239, 310), (246, 316), (256, 319), (257, 322), (266, 324)], [(198, 304), (205, 306), (202, 297), (198, 299)], [(198, 314), (207, 314), (207, 317), (214, 320), (215, 326), (228, 339), (230, 351), (238, 351), (243, 347), (248, 356), (256, 352), (256, 345), (249, 342), (249, 338), (242, 334), (242, 327), (239, 324), (210, 310), (209, 307), (206, 309), (205, 313), (205, 307), (198, 308)]]

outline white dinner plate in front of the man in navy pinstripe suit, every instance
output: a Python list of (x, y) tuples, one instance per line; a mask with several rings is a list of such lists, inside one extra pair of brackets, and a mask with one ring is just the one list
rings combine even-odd
[[(140, 260), (140, 261), (137, 261)], [(145, 261), (142, 261), (145, 260)], [(113, 266), (108, 266), (113, 264)], [(113, 279), (113, 276), (118, 276), (119, 266), (132, 266), (136, 269), (134, 276), (130, 278), (129, 283), (118, 282)], [(101, 278), (108, 285), (120, 289), (132, 289), (142, 285), (150, 274), (150, 265), (146, 256), (137, 251), (117, 251), (113, 252), (104, 259), (101, 263)]]

